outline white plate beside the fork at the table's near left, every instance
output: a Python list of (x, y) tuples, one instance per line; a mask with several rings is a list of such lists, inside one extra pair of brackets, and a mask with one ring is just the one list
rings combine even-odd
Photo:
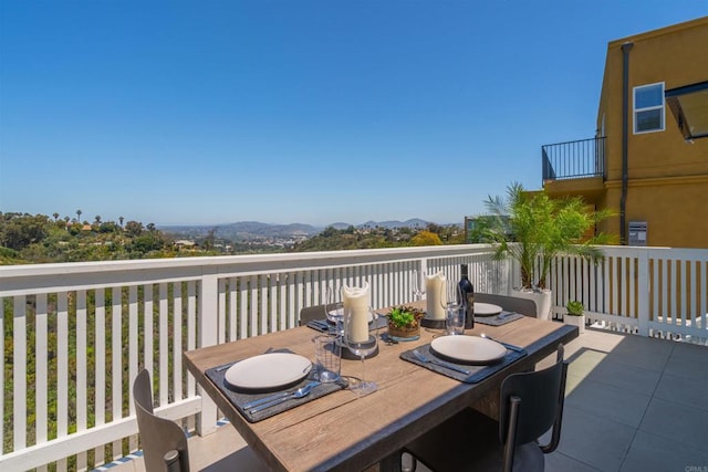
[(310, 374), (312, 363), (290, 353), (249, 357), (229, 367), (226, 381), (236, 388), (268, 389), (295, 384)]

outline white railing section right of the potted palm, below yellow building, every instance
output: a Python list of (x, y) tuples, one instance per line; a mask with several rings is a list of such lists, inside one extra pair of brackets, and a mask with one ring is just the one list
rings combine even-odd
[(556, 315), (582, 301), (591, 323), (642, 336), (708, 339), (708, 250), (605, 247), (593, 265), (559, 258), (551, 286)]

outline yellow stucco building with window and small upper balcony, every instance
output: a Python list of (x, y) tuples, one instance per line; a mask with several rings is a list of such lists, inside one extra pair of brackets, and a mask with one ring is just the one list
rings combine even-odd
[(607, 45), (595, 138), (543, 146), (543, 187), (633, 245), (708, 248), (708, 17)]

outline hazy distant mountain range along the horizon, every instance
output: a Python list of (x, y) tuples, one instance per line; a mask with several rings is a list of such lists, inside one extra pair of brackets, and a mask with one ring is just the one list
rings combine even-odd
[[(425, 228), (427, 221), (414, 218), (406, 221), (367, 221), (357, 224), (356, 228)], [(345, 222), (336, 222), (327, 224), (337, 230), (344, 230), (354, 225)], [(304, 223), (291, 224), (272, 224), (261, 223), (259, 221), (239, 221), (237, 223), (227, 224), (205, 224), (205, 225), (168, 225), (159, 227), (165, 233), (178, 238), (201, 238), (206, 237), (209, 231), (215, 230), (215, 237), (231, 240), (248, 240), (258, 238), (294, 238), (294, 237), (312, 237), (319, 234), (324, 228), (313, 227)]]

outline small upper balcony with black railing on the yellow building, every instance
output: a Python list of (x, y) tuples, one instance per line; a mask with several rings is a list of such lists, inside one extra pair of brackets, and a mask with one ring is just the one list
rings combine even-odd
[(604, 189), (605, 137), (541, 146), (543, 187), (553, 193), (592, 196)]

